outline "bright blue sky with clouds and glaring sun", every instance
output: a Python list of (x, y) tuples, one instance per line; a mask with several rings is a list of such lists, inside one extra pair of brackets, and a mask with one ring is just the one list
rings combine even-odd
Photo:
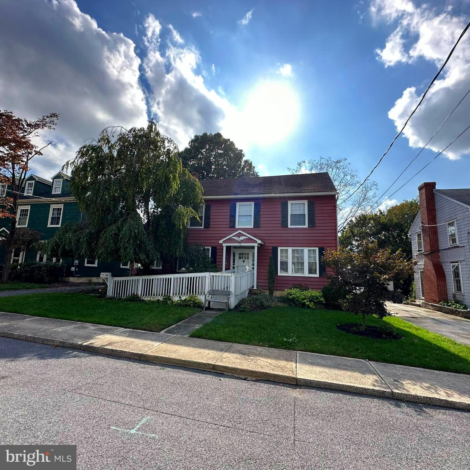
[[(180, 146), (194, 133), (222, 131), (261, 175), (323, 156), (347, 157), (365, 177), (470, 13), (467, 1), (25, 0), (31, 8), (22, 13), (4, 1), (3, 21), (16, 26), (8, 39), (10, 70), (0, 70), (0, 106), (27, 117), (61, 113), (53, 135), (59, 145), (33, 167), (46, 176), (105, 125), (141, 125), (154, 115)], [(408, 134), (374, 172), (379, 194), (470, 88), (469, 45), (467, 37)], [(6, 59), (0, 54), (0, 69)], [(29, 83), (18, 77), (21, 69), (41, 77)], [(402, 182), (470, 124), (467, 100)], [(469, 187), (470, 137), (452, 149), (393, 199), (415, 197), (424, 180)]]

